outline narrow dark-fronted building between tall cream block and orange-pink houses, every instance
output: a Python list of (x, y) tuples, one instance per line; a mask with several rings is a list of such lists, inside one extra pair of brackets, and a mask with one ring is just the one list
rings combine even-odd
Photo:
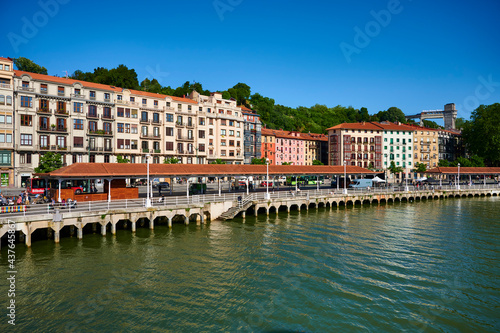
[(244, 105), (240, 105), (240, 109), (245, 119), (243, 131), (244, 163), (251, 164), (252, 159), (261, 158), (262, 156), (262, 124), (260, 122), (260, 116), (253, 110)]

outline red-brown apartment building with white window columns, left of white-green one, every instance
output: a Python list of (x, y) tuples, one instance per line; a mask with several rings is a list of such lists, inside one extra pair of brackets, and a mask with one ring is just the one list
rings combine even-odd
[[(377, 123), (343, 123), (327, 129), (329, 165), (382, 169), (384, 129)], [(389, 162), (390, 163), (390, 162)]]

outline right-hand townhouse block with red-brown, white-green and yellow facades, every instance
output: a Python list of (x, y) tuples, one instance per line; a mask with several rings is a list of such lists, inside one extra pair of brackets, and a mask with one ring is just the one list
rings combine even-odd
[(390, 122), (343, 123), (328, 129), (330, 165), (355, 165), (376, 170), (395, 166), (427, 168), (463, 154), (459, 131)]

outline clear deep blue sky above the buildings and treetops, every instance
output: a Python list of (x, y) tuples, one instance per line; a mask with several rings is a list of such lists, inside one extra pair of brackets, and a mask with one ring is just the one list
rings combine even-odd
[(370, 114), (455, 103), (468, 118), (478, 104), (500, 102), (497, 0), (2, 6), (0, 56), (27, 57), (51, 75), (125, 64), (139, 81), (197, 81), (212, 91), (244, 82), (278, 104), (364, 106)]

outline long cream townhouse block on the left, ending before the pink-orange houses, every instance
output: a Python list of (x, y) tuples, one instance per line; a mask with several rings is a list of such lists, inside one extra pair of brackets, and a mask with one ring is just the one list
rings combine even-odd
[(63, 163), (250, 163), (261, 154), (259, 115), (235, 100), (184, 98), (28, 73), (0, 58), (2, 186), (22, 186), (47, 151)]

